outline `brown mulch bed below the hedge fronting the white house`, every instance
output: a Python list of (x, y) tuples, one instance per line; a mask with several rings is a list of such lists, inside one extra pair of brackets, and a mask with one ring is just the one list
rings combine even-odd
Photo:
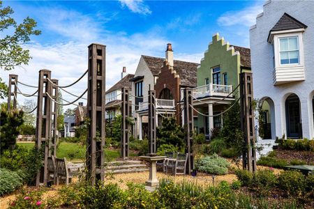
[(281, 148), (275, 151), (277, 159), (287, 160), (287, 162), (291, 160), (302, 160), (306, 162), (306, 164), (314, 165), (314, 152), (312, 151), (283, 150)]

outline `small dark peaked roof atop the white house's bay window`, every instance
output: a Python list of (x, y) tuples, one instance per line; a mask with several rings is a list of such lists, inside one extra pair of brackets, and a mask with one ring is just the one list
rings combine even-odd
[(284, 13), (283, 16), (281, 16), (281, 19), (278, 20), (278, 22), (275, 24), (275, 26), (269, 31), (269, 35), (267, 40), (269, 41), (269, 38), (271, 37), (272, 31), (285, 31), (285, 30), (291, 30), (291, 29), (306, 29), (308, 26), (306, 24), (303, 24), (302, 22), (299, 22), (299, 20), (295, 19), (294, 17), (291, 17), (287, 13)]

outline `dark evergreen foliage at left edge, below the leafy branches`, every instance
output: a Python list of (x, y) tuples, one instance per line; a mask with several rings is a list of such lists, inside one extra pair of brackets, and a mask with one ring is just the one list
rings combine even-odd
[(0, 116), (0, 138), (1, 153), (7, 149), (13, 149), (16, 137), (20, 134), (20, 126), (24, 123), (22, 110), (6, 111), (1, 109)]

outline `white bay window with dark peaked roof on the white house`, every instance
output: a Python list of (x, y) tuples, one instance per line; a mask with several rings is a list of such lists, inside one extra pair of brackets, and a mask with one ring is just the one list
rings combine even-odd
[(303, 33), (307, 26), (287, 13), (269, 31), (273, 45), (274, 85), (304, 81)]

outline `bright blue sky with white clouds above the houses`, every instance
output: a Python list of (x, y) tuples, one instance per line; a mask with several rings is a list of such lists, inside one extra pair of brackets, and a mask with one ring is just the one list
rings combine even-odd
[[(107, 45), (107, 88), (123, 66), (134, 73), (141, 54), (199, 63), (214, 33), (232, 45), (249, 46), (248, 29), (264, 1), (4, 1), (21, 22), (32, 17), (42, 34), (26, 47), (33, 59), (17, 68), (21, 81), (37, 84), (38, 70), (52, 70), (59, 83), (73, 82), (87, 69), (87, 46)], [(9, 72), (1, 71), (7, 80)], [(83, 80), (70, 89), (80, 94)], [(28, 91), (26, 89), (25, 91)], [(31, 91), (31, 90), (29, 90)], [(69, 95), (64, 95), (71, 100)]]

